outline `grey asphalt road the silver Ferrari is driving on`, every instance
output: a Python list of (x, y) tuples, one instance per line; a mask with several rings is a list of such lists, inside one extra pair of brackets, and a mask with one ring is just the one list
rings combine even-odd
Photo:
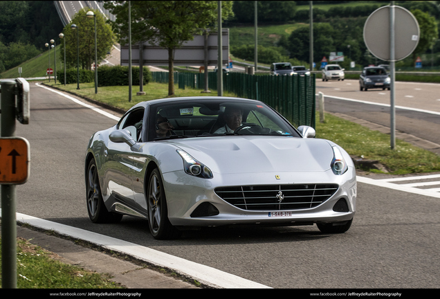
[[(338, 83), (326, 84), (327, 91)], [(91, 134), (116, 120), (35, 84), (30, 88), (30, 124), (17, 123), (16, 131), (28, 139), (31, 157), (30, 178), (17, 186), (17, 212), (147, 246), (268, 287), (440, 285), (439, 199), (366, 183), (358, 183), (358, 212), (342, 235), (322, 234), (315, 226), (237, 227), (158, 241), (142, 219), (93, 224), (86, 211), (84, 153)], [(376, 98), (376, 91), (365, 94)]]

